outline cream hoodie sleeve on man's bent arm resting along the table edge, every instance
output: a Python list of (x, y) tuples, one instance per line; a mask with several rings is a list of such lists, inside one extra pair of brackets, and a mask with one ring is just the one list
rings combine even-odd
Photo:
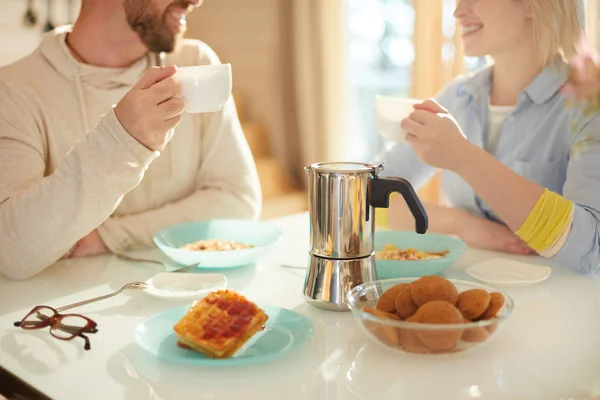
[(153, 246), (153, 235), (171, 224), (258, 218), (262, 203), (258, 173), (233, 98), (221, 111), (202, 116), (202, 131), (196, 190), (163, 207), (106, 220), (98, 233), (112, 252)]

